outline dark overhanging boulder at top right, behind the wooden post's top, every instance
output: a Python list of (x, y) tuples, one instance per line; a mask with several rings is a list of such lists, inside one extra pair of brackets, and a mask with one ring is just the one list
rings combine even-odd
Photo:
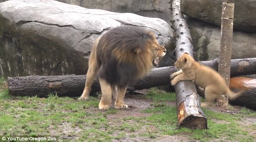
[[(190, 17), (220, 26), (222, 2), (227, 0), (180, 0), (180, 8)], [(234, 29), (256, 32), (256, 0), (232, 2), (235, 4)]]

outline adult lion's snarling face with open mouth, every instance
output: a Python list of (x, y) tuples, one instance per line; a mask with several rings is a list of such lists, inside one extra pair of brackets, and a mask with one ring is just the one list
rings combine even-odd
[(159, 61), (161, 61), (162, 58), (166, 55), (166, 49), (162, 45), (159, 45), (159, 43), (155, 39), (151, 43), (151, 51), (152, 51), (152, 57), (153, 57), (152, 63), (156, 67)]

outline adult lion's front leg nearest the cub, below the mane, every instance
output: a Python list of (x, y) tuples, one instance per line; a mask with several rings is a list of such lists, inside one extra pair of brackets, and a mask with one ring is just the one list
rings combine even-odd
[(125, 87), (117, 87), (117, 96), (115, 99), (115, 108), (117, 109), (126, 109), (128, 105), (124, 104), (124, 96), (126, 93), (127, 86)]

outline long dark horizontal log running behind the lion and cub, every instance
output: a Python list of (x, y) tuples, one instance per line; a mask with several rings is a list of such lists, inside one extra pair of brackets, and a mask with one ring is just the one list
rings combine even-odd
[[(207, 65), (218, 70), (218, 59), (211, 61), (201, 61), (202, 65)], [(231, 60), (231, 76), (250, 75), (256, 73), (256, 58), (233, 59)], [(170, 84), (170, 74), (177, 71), (175, 67), (160, 67), (152, 69), (149, 75), (139, 79), (134, 89), (148, 89), (151, 87)], [(9, 93), (14, 96), (33, 96), (46, 97), (48, 93), (57, 92), (61, 96), (78, 97), (84, 89), (86, 75), (56, 75), (56, 76), (26, 76), (8, 77), (6, 84)], [(98, 79), (92, 84), (94, 94), (100, 91)]]

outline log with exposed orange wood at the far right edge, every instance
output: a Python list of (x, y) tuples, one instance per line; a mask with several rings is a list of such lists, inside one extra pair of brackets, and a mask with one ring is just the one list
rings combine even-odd
[(229, 88), (232, 91), (245, 90), (243, 95), (230, 101), (233, 105), (246, 106), (256, 110), (256, 79), (248, 77), (231, 77)]

